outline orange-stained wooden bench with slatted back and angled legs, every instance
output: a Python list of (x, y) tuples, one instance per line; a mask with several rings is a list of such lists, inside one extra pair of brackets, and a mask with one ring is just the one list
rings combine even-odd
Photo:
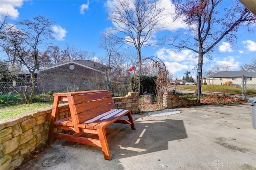
[[(115, 122), (130, 124), (131, 128), (135, 129), (131, 111), (114, 109), (108, 90), (55, 93), (53, 96), (52, 116), (46, 142), (49, 146), (52, 145), (53, 138), (98, 146), (102, 148), (104, 158), (111, 160), (106, 127)], [(71, 116), (56, 120), (60, 101), (68, 101)], [(128, 120), (120, 119), (122, 116), (128, 116)], [(62, 131), (71, 130), (73, 134), (54, 132), (54, 128), (62, 129)], [(86, 134), (96, 134), (98, 138), (89, 138)]]

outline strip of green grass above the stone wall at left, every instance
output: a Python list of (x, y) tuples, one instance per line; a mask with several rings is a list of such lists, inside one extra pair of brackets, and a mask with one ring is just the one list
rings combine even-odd
[(12, 104), (0, 107), (0, 119), (15, 116), (24, 112), (38, 110), (52, 106), (52, 102), (33, 103), (33, 104)]

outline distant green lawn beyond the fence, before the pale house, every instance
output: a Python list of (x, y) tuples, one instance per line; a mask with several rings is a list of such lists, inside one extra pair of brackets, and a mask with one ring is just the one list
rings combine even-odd
[[(190, 89), (190, 90), (196, 90), (196, 85), (179, 85), (176, 86), (176, 88), (184, 88), (184, 89)], [(223, 86), (223, 85), (202, 85), (203, 92), (220, 92), (220, 93), (226, 93), (226, 94), (242, 94), (242, 88), (234, 87), (234, 86)], [(246, 95), (248, 96), (255, 96), (256, 95), (256, 89), (246, 89)]]

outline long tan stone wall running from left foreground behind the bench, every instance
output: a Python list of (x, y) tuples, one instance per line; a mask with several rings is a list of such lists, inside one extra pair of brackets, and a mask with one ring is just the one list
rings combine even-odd
[[(113, 98), (115, 108), (139, 112), (138, 92), (129, 92), (125, 97)], [(26, 112), (0, 120), (0, 169), (12, 170), (36, 148), (44, 146), (48, 137), (52, 108)], [(58, 109), (57, 120), (70, 115), (68, 104)]]

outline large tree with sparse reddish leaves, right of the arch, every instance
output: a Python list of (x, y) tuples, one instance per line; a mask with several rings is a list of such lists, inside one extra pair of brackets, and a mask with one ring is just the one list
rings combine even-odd
[[(239, 1), (230, 8), (225, 8), (223, 16), (220, 16), (222, 0), (176, 0), (176, 19), (182, 18), (182, 22), (190, 26), (192, 36), (186, 40), (169, 38), (169, 45), (177, 48), (187, 48), (198, 54), (198, 82), (202, 79), (203, 57), (210, 54), (223, 38), (230, 44), (236, 43), (236, 32), (239, 27), (247, 28), (248, 32), (254, 29), (250, 25), (256, 23), (256, 16), (248, 11)], [(233, 2), (232, 2), (233, 3)], [(192, 43), (194, 42), (194, 43)], [(200, 83), (197, 83), (198, 102), (200, 102)]]

